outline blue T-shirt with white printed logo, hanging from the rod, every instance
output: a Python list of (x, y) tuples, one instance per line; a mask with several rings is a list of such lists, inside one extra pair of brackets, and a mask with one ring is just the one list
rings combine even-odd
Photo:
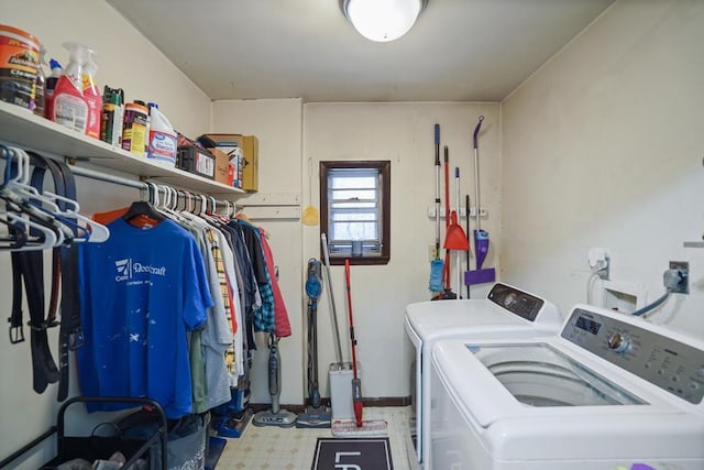
[(188, 414), (187, 330), (200, 328), (212, 306), (198, 244), (168, 219), (140, 229), (119, 218), (108, 228), (105, 243), (80, 245), (81, 393), (148, 397), (169, 418)]

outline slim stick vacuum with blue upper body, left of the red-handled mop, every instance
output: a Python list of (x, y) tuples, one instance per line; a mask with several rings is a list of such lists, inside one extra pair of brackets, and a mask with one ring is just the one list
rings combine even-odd
[(318, 389), (318, 298), (322, 291), (321, 263), (311, 258), (308, 260), (308, 278), (306, 294), (308, 295), (308, 403), (302, 414), (298, 415), (298, 428), (329, 428), (332, 414), (320, 403)]

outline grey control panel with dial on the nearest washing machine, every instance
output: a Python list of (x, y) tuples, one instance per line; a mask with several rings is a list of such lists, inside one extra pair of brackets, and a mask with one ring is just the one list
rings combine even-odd
[(656, 332), (646, 325), (575, 308), (561, 336), (690, 403), (702, 403), (704, 349)]

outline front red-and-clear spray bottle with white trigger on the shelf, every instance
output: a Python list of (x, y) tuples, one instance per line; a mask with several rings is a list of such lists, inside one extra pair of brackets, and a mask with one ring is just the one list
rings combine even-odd
[(69, 51), (70, 58), (64, 75), (56, 81), (48, 102), (48, 117), (52, 121), (84, 134), (89, 112), (82, 94), (82, 64), (86, 61), (87, 48), (73, 42), (62, 45)]

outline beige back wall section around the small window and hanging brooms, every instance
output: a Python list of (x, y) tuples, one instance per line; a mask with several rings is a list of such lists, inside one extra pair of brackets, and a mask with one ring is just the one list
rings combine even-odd
[[(433, 125), (449, 146), (450, 200), (455, 201), (454, 167), (460, 167), (461, 198), (474, 198), (472, 132), (485, 116), (480, 136), (482, 206), (490, 212), (482, 228), (495, 240), (501, 220), (501, 116), (498, 103), (308, 103), (304, 106), (304, 162), (312, 161), (311, 204), (319, 207), (318, 162), (322, 160), (389, 160), (392, 162), (392, 253), (385, 266), (352, 266), (352, 302), (358, 360), (365, 396), (408, 396), (411, 347), (403, 329), (408, 303), (430, 299), (429, 247), (435, 244)], [(442, 151), (441, 151), (442, 159)], [(444, 192), (441, 192), (442, 194)], [(305, 195), (307, 198), (307, 195)], [(444, 200), (444, 196), (442, 196)], [(304, 203), (306, 205), (307, 203)], [(464, 227), (464, 222), (462, 221)], [(444, 239), (444, 222), (442, 222)], [(320, 228), (304, 228), (304, 260), (320, 256)], [(454, 255), (452, 255), (454, 261)], [(461, 256), (464, 266), (464, 253)], [(497, 265), (495, 247), (485, 266)], [(472, 260), (472, 265), (474, 260)], [(454, 265), (454, 264), (453, 264)], [(332, 266), (342, 350), (350, 360), (344, 267)], [(454, 280), (454, 276), (452, 277)], [(330, 286), (319, 303), (320, 376), (334, 362)], [(454, 288), (457, 292), (457, 288)], [(464, 289), (462, 289), (464, 295)], [(477, 286), (473, 296), (485, 295)], [(327, 396), (327, 385), (322, 389)]]

